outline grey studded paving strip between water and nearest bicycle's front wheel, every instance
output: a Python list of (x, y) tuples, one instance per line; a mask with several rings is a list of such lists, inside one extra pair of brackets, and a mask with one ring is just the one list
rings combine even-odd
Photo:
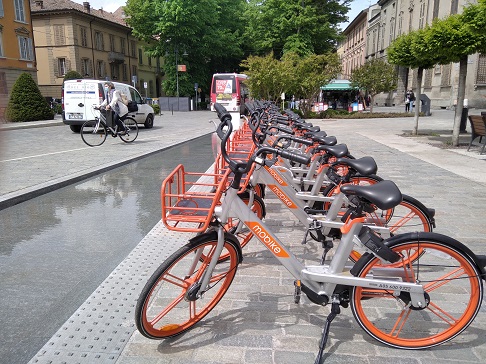
[(29, 363), (115, 363), (135, 330), (134, 310), (144, 284), (193, 236), (159, 222)]

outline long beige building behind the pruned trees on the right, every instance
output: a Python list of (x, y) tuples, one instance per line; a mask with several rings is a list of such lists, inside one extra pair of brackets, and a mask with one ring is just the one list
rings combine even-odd
[[(379, 0), (376, 5), (368, 9), (365, 58), (386, 59), (386, 49), (398, 36), (432, 24), (434, 19), (461, 13), (464, 6), (475, 2), (475, 0)], [(347, 28), (348, 34), (356, 34), (360, 24), (360, 21), (353, 21), (348, 28), (356, 29)], [(343, 69), (345, 69), (344, 62)], [(416, 70), (399, 67), (398, 71), (397, 90), (389, 95), (378, 95), (375, 102), (379, 105), (401, 105), (404, 103), (406, 90), (417, 88)], [(433, 108), (454, 107), (457, 100), (458, 77), (459, 64), (457, 63), (437, 65), (424, 72), (422, 93), (431, 99)], [(486, 54), (474, 54), (468, 57), (466, 98), (469, 107), (486, 107)]]

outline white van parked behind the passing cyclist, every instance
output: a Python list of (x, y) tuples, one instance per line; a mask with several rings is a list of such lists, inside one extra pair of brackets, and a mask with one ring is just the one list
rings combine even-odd
[[(69, 125), (71, 130), (79, 133), (81, 125), (86, 120), (94, 120), (93, 105), (99, 105), (105, 99), (103, 85), (106, 81), (101, 80), (67, 80), (62, 87), (62, 121)], [(112, 81), (110, 81), (112, 82)], [(129, 112), (137, 124), (144, 124), (146, 128), (154, 126), (154, 109), (146, 104), (139, 92), (132, 86), (125, 83), (113, 82), (116, 90), (136, 101), (138, 111)]]

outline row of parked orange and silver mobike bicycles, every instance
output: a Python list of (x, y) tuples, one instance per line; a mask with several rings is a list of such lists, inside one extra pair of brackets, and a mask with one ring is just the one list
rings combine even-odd
[[(165, 226), (194, 237), (143, 288), (138, 330), (163, 339), (193, 327), (230, 288), (245, 245), (260, 241), (294, 277), (296, 303), (304, 294), (331, 305), (316, 363), (340, 307), (395, 348), (430, 348), (463, 332), (481, 306), (486, 257), (432, 232), (434, 210), (377, 176), (372, 157), (353, 157), (290, 110), (246, 106), (245, 124), (233, 131), (231, 115), (215, 105), (214, 171), (179, 165), (162, 184)], [(267, 191), (302, 224), (303, 243), (322, 245), (313, 264), (265, 224)]]

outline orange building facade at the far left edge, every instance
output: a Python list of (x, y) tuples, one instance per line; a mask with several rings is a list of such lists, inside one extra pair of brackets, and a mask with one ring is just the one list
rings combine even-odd
[(0, 119), (23, 72), (37, 81), (29, 0), (0, 0)]

